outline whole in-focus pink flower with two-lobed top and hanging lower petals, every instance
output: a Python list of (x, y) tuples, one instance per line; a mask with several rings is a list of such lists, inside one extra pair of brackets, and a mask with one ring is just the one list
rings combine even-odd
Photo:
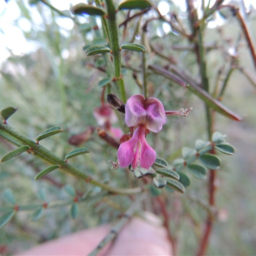
[(160, 132), (166, 123), (164, 106), (156, 98), (145, 99), (134, 95), (125, 104), (125, 123), (133, 128), (132, 138), (123, 142), (117, 150), (120, 167), (132, 164), (148, 169), (156, 160), (156, 151), (151, 148), (145, 137), (148, 130)]

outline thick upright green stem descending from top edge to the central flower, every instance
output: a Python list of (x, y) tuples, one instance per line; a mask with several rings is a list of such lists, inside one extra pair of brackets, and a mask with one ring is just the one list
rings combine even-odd
[(120, 90), (121, 100), (125, 103), (126, 93), (124, 88), (124, 79), (121, 74), (121, 53), (120, 53), (118, 31), (117, 31), (117, 25), (116, 25), (116, 10), (112, 0), (106, 0), (105, 3), (106, 3), (107, 13), (108, 13), (109, 43), (112, 50), (116, 83)]

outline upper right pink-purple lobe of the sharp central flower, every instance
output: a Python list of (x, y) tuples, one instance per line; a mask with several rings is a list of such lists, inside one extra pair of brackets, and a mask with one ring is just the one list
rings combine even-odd
[(160, 132), (167, 118), (162, 102), (156, 98), (148, 98), (146, 101), (147, 129), (151, 132)]

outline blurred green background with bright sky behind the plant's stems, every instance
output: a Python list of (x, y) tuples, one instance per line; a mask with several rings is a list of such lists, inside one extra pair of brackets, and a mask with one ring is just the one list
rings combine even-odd
[[(159, 7), (160, 2), (166, 1), (153, 1), (153, 4)], [(232, 4), (239, 5), (238, 2), (242, 1), (234, 1)], [(56, 1), (51, 3), (54, 6)], [(60, 17), (42, 3), (29, 5), (28, 1), (10, 0), (7, 4), (1, 4), (3, 8), (0, 12), (0, 34), (1, 38), (8, 37), (9, 41), (3, 39), (0, 44), (1, 54), (3, 53), (0, 66), (0, 109), (8, 106), (18, 107), (8, 124), (31, 139), (35, 139), (40, 132), (50, 126), (61, 125), (64, 132), (42, 141), (42, 145), (63, 157), (74, 148), (68, 144), (71, 135), (83, 132), (89, 126), (96, 126), (92, 110), (100, 105), (101, 89), (97, 84), (105, 76), (104, 72), (100, 71), (104, 60), (102, 56), (85, 57), (83, 51), (84, 45), (94, 43), (96, 35), (93, 31), (81, 32), (81, 28), (72, 20)], [(186, 12), (173, 2), (169, 1), (168, 4), (170, 12), (178, 13), (186, 26)], [(125, 16), (118, 15), (121, 23)], [(150, 17), (150, 14), (147, 15), (146, 18)], [(251, 7), (250, 13), (244, 12), (244, 15), (253, 42), (256, 42), (254, 40), (255, 9)], [(92, 23), (89, 17), (79, 17), (79, 19), (81, 23)], [(100, 24), (98, 20), (94, 22)], [(167, 29), (166, 32), (166, 29), (164, 30), (166, 25), (163, 24), (153, 22), (150, 25), (147, 43), (154, 44), (166, 56), (178, 59), (177, 66), (188, 69), (196, 78), (194, 53), (188, 50), (173, 50), (175, 48), (173, 46), (184, 46), (188, 42), (172, 30)], [(10, 38), (10, 31), (13, 38)], [(23, 37), (19, 37), (19, 33)], [(131, 34), (132, 30), (129, 30), (129, 38)], [(207, 72), (212, 89), (218, 79), (222, 81), (225, 77), (233, 48), (240, 34), (241, 29), (230, 14), (227, 14), (226, 20), (222, 20), (221, 25), (215, 24), (213, 28), (210, 26), (207, 28), (205, 44), (218, 46), (207, 52)], [(140, 42), (140, 36), (137, 37)], [(10, 43), (12, 40), (16, 44)], [(19, 40), (20, 48), (17, 47)], [(227, 52), (230, 52), (230, 55)], [(239, 41), (237, 54), (236, 61), (251, 73), (253, 80), (255, 69), (243, 36)], [(5, 55), (6, 57), (3, 57)], [(139, 87), (132, 78), (132, 70), (129, 68), (131, 65), (133, 69), (140, 70), (140, 54), (124, 53), (122, 61), (128, 94), (140, 93)], [(165, 62), (154, 52), (148, 52), (148, 63), (164, 66)], [(223, 72), (220, 76), (218, 76), (219, 70)], [(210, 239), (208, 255), (256, 255), (255, 81), (250, 81), (242, 72), (235, 70), (223, 97), (224, 104), (244, 117), (243, 122), (231, 121), (216, 114), (215, 130), (227, 134), (227, 141), (235, 146), (236, 154), (221, 156), (221, 169), (217, 171), (216, 180), (218, 187), (216, 205), (219, 215)], [(165, 135), (160, 135), (164, 136), (166, 145), (168, 144), (167, 152), (171, 154), (167, 154), (167, 157), (171, 161), (179, 156), (182, 146), (193, 147), (196, 139), (206, 139), (204, 106), (196, 96), (161, 76), (150, 75), (149, 86), (153, 88), (152, 95), (161, 98), (165, 109), (193, 107), (188, 118), (169, 118), (168, 124), (163, 129)], [(151, 136), (150, 139), (154, 142), (157, 138)], [(87, 172), (92, 175), (97, 174), (102, 179), (110, 177), (114, 180), (117, 175), (116, 183), (122, 186), (123, 174), (116, 174), (120, 170), (109, 170), (108, 160), (116, 159), (116, 150), (107, 146), (96, 133), (84, 143), (84, 146), (91, 149), (90, 156), (79, 156), (76, 160), (71, 160), (71, 163), (82, 168), (86, 166)], [(164, 154), (161, 153), (161, 150), (163, 151), (161, 146), (162, 144), (156, 145), (155, 148), (160, 156)], [(0, 138), (0, 156), (13, 148), (11, 144)], [(2, 163), (0, 193), (6, 188), (12, 188), (19, 204), (29, 204), (38, 202), (37, 195), (40, 189), (46, 191), (48, 201), (67, 198), (68, 195), (63, 188), (60, 188), (60, 184), (75, 184), (77, 190), (83, 191), (83, 181), (77, 181), (76, 178), (59, 171), (51, 174), (59, 185), (52, 185), (49, 180), (35, 181), (35, 173), (42, 169), (42, 165), (44, 164), (41, 160), (30, 155), (22, 155)], [(180, 212), (177, 213), (177, 210), (175, 213), (183, 217), (178, 234), (179, 255), (194, 255), (199, 239), (188, 212), (196, 214), (196, 219), (199, 221), (205, 218), (204, 210), (191, 199), (191, 196), (206, 200), (207, 182), (191, 177), (191, 185), (185, 195), (170, 195), (172, 206), (175, 200), (187, 205)], [(115, 197), (115, 202), (122, 206), (126, 206), (127, 203), (119, 196)], [(6, 203), (0, 200), (0, 206), (4, 205)], [(75, 220), (70, 218), (68, 207), (45, 211), (44, 216), (36, 222), (30, 220), (31, 212), (19, 212), (14, 220), (0, 230), (0, 253), (13, 254), (34, 244), (115, 219), (118, 215), (118, 211), (106, 212), (102, 210), (104, 207), (94, 208), (92, 205), (93, 202), (81, 204), (78, 218)]]

